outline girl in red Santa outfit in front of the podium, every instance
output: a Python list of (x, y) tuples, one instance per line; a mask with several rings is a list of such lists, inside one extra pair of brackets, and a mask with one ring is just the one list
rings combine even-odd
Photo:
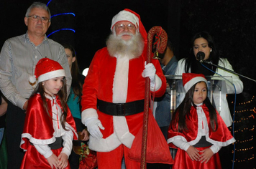
[(207, 97), (204, 74), (183, 73), (186, 97), (173, 114), (168, 144), (178, 148), (173, 169), (220, 169), (218, 151), (235, 142)]

